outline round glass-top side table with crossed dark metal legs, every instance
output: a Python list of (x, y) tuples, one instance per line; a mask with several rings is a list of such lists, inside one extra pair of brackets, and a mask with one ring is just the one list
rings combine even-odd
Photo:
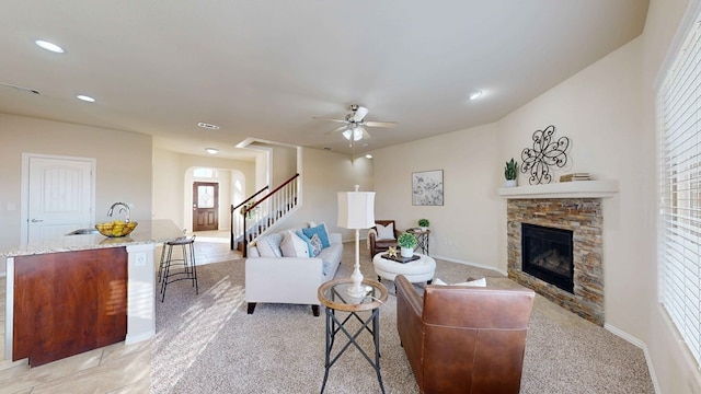
[[(377, 373), (377, 380), (380, 383), (380, 390), (384, 393), (382, 384), (382, 375), (380, 374), (380, 306), (387, 301), (387, 288), (377, 280), (363, 279), (363, 286), (366, 287), (366, 296), (363, 298), (353, 298), (348, 296), (348, 288), (353, 286), (350, 278), (338, 278), (330, 280), (319, 287), (319, 301), (325, 306), (326, 311), (326, 358), (324, 362), (325, 372), (324, 381), (321, 385), (321, 393), (326, 387), (329, 379), (329, 370), (338, 360), (350, 345), (355, 346), (365, 359), (370, 363)], [(370, 315), (364, 318), (359, 313), (369, 312)], [(350, 322), (359, 322), (355, 333), (349, 329)], [(375, 357), (370, 358), (363, 347), (356, 341), (356, 338), (363, 333), (368, 332), (372, 336), (375, 345)], [(332, 357), (333, 346), (336, 334), (343, 333), (348, 339), (347, 343)]]

